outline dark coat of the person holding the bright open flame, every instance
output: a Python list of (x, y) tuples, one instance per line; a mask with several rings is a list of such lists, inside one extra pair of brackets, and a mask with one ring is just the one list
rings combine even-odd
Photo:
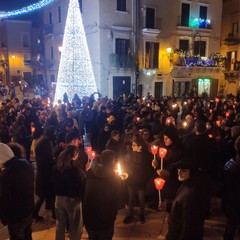
[(83, 203), (86, 228), (104, 231), (114, 226), (117, 211), (122, 207), (122, 182), (112, 167), (94, 162), (87, 172)]

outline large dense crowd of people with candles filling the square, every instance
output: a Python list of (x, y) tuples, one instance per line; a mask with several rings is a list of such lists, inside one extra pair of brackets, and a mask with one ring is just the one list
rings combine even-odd
[[(115, 100), (75, 94), (54, 106), (49, 98), (13, 97), (2, 101), (0, 117), (0, 219), (11, 239), (31, 239), (31, 219), (42, 220), (44, 201), (56, 219), (57, 240), (65, 239), (66, 229), (70, 239), (79, 240), (83, 226), (90, 240), (112, 239), (117, 211), (125, 204), (124, 224), (136, 214), (144, 224), (146, 206), (163, 208), (156, 177), (165, 180), (164, 239), (203, 239), (214, 195), (228, 219), (224, 240), (234, 239), (240, 223), (239, 96), (210, 100), (191, 91), (179, 103), (150, 94)], [(96, 152), (93, 161), (86, 136)], [(163, 164), (158, 154), (153, 160), (153, 146), (167, 150)], [(117, 163), (128, 174), (124, 181)]]

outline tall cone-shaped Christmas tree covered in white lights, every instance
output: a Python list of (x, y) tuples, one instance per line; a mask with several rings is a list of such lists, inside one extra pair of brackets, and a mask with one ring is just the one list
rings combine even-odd
[(64, 93), (71, 101), (74, 94), (83, 97), (96, 91), (79, 3), (78, 0), (70, 0), (54, 102), (62, 100)]

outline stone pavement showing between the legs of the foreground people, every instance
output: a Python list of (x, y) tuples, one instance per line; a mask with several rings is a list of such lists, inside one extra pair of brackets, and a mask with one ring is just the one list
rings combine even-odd
[[(113, 240), (157, 240), (159, 235), (164, 235), (167, 232), (167, 214), (165, 212), (146, 209), (146, 222), (141, 224), (137, 218), (138, 209), (136, 208), (135, 210), (135, 221), (128, 225), (123, 224), (123, 219), (127, 213), (126, 209), (119, 211)], [(44, 221), (33, 222), (33, 240), (54, 240), (55, 221), (51, 218), (49, 210), (42, 209), (41, 211)], [(219, 211), (219, 200), (214, 198), (211, 217), (205, 221), (204, 240), (222, 240), (225, 221), (225, 217)], [(8, 239), (6, 227), (0, 226), (0, 239)], [(69, 239), (67, 234), (65, 239)], [(86, 239), (88, 238), (86, 231), (84, 231), (82, 240)], [(239, 239), (240, 235), (238, 234), (234, 240)]]

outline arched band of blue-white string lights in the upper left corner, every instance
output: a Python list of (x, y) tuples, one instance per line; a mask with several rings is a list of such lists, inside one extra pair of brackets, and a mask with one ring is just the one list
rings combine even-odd
[(0, 12), (0, 19), (33, 12), (35, 10), (38, 10), (38, 9), (41, 9), (41, 8), (47, 6), (48, 4), (50, 4), (54, 1), (55, 0), (42, 0), (42, 1), (39, 1), (38, 3), (34, 3), (27, 7), (23, 7), (23, 8), (17, 9), (17, 10), (13, 10), (13, 11), (9, 11), (9, 12)]

